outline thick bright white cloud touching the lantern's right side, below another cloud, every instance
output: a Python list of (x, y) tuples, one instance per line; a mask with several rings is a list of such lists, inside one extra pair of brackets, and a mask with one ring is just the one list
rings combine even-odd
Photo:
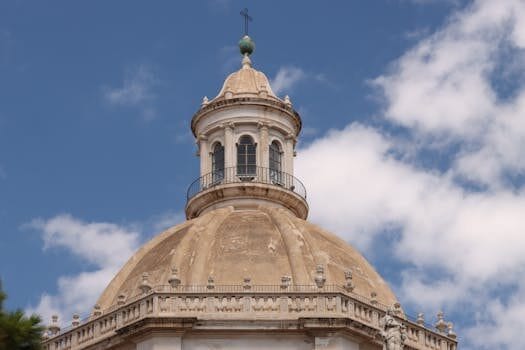
[(309, 189), (311, 219), (369, 252), (399, 227), (392, 258), (409, 266), (401, 300), (427, 313), (467, 303), (474, 317), (491, 292), (525, 280), (525, 193), (470, 193), (446, 174), (397, 159), (397, 146), (353, 124), (300, 150), (296, 172)]

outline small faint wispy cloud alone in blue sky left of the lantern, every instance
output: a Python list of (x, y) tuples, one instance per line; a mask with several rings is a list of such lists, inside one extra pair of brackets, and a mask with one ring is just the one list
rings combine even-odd
[(155, 110), (150, 102), (155, 99), (153, 88), (158, 78), (153, 69), (145, 64), (128, 69), (121, 87), (104, 87), (104, 98), (116, 106), (140, 107), (145, 120), (155, 118)]

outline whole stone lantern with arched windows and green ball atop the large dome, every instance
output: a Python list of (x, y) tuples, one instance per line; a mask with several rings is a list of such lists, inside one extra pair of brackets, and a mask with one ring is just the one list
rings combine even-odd
[(188, 189), (186, 216), (225, 207), (260, 204), (308, 215), (306, 189), (293, 175), (301, 118), (288, 96), (275, 95), (266, 75), (252, 66), (255, 43), (239, 41), (241, 68), (219, 94), (203, 99), (191, 121), (200, 157), (200, 176)]

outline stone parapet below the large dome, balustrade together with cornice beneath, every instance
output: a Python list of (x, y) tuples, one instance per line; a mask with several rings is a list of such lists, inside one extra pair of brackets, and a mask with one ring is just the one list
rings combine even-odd
[[(111, 348), (151, 329), (181, 332), (208, 327), (218, 331), (232, 325), (241, 332), (244, 328), (337, 330), (381, 344), (380, 320), (387, 309), (334, 285), (156, 286), (123, 305), (101, 310), (76, 327), (63, 329), (47, 339), (43, 348), (95, 349), (102, 343)], [(395, 318), (406, 328), (405, 349), (457, 349), (455, 338), (409, 320), (399, 307), (396, 310)]]

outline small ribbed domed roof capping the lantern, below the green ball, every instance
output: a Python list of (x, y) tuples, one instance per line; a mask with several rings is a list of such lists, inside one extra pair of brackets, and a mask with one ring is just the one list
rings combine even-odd
[(281, 101), (270, 87), (266, 75), (252, 67), (247, 54), (242, 59), (242, 68), (226, 78), (221, 91), (213, 100), (235, 97), (262, 97)]

